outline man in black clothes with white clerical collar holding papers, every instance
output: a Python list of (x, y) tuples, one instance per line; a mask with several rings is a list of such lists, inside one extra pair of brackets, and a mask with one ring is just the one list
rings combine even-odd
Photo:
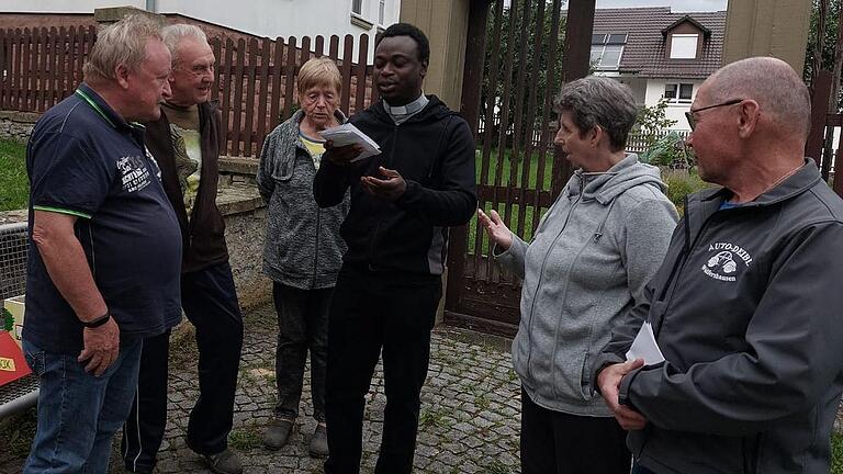
[(329, 313), (330, 474), (359, 472), (364, 396), (381, 351), (386, 408), (375, 472), (412, 471), (448, 228), (465, 224), (476, 207), (471, 131), (422, 92), (429, 55), (413, 25), (383, 33), (374, 57), (382, 100), (350, 119), (382, 153), (351, 162), (359, 148), (328, 145), (314, 181), (322, 207), (351, 191), (340, 228), (348, 251)]

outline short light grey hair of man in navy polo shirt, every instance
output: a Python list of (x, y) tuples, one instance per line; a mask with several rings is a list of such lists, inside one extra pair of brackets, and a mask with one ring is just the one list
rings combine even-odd
[(114, 70), (123, 65), (136, 71), (146, 59), (149, 40), (164, 41), (161, 25), (145, 15), (133, 14), (104, 26), (97, 33), (82, 72), (86, 82), (114, 80)]

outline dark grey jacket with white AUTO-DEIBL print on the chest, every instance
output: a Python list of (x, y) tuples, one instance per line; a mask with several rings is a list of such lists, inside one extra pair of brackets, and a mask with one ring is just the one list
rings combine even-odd
[(595, 369), (651, 321), (666, 362), (627, 374), (620, 403), (649, 420), (628, 444), (655, 473), (827, 474), (843, 392), (843, 201), (811, 160), (721, 208), (730, 196), (689, 196)]

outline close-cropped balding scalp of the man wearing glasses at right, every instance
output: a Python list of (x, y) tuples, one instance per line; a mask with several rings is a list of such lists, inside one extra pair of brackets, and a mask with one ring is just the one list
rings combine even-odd
[(811, 95), (799, 75), (782, 59), (741, 59), (723, 66), (706, 82), (711, 103), (752, 99), (777, 127), (808, 138)]

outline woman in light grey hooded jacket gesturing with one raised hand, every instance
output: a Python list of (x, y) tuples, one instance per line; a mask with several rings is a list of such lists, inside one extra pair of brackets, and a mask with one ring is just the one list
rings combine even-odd
[(497, 261), (522, 280), (513, 363), (521, 380), (524, 474), (629, 473), (626, 433), (588, 379), (611, 329), (643, 298), (678, 218), (659, 169), (626, 154), (629, 89), (587, 77), (555, 101), (554, 143), (577, 170), (531, 242), (477, 211)]

